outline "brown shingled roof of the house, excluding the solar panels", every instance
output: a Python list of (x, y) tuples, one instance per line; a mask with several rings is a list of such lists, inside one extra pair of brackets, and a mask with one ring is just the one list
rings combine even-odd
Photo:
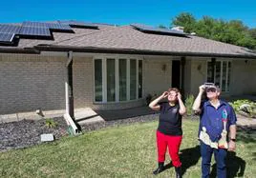
[(53, 31), (53, 40), (21, 38), (16, 47), (0, 46), (0, 52), (36, 49), (256, 58), (252, 50), (195, 35), (182, 37), (145, 33), (132, 26), (97, 26), (98, 30), (72, 28), (75, 33)]

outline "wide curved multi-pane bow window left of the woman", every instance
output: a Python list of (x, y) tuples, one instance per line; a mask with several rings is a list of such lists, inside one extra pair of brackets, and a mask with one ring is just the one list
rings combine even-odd
[(95, 59), (95, 102), (120, 102), (142, 97), (142, 61)]

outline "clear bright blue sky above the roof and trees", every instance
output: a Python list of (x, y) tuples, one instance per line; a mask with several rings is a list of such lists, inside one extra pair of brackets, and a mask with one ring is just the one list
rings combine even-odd
[(242, 20), (256, 28), (256, 0), (5, 0), (0, 7), (0, 23), (77, 20), (170, 27), (177, 15), (189, 12), (196, 19)]

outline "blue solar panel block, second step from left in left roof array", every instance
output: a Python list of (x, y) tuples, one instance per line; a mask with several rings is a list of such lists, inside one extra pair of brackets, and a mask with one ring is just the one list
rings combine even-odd
[(30, 35), (30, 36), (47, 36), (47, 37), (52, 36), (49, 29), (33, 28), (33, 27), (22, 27), (19, 34)]

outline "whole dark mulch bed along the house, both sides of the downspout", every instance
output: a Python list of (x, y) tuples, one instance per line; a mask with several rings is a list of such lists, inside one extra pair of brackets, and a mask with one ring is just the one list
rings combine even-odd
[[(149, 114), (132, 118), (118, 119), (107, 122), (99, 122), (81, 126), (82, 131), (115, 127), (119, 125), (129, 125), (138, 122), (151, 122), (158, 119), (159, 114)], [(53, 133), (55, 139), (69, 135), (68, 126), (63, 117), (53, 118), (57, 123), (56, 128), (47, 128), (44, 119), (41, 120), (21, 120), (11, 123), (0, 124), (0, 151), (13, 148), (28, 148), (41, 143), (40, 135), (43, 133)]]

